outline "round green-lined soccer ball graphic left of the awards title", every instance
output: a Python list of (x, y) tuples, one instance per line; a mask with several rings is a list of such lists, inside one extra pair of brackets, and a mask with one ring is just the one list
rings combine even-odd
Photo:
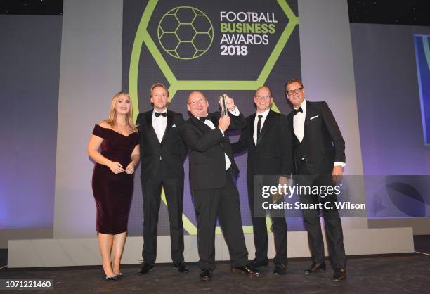
[(164, 51), (178, 59), (202, 56), (214, 40), (211, 20), (197, 8), (180, 6), (163, 15), (158, 24), (158, 41)]

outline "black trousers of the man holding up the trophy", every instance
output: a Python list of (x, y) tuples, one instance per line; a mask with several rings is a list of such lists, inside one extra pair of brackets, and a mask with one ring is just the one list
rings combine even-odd
[(193, 190), (197, 217), (197, 247), (200, 269), (215, 269), (215, 227), (219, 218), (230, 253), (232, 267), (248, 263), (248, 251), (240, 217), (239, 193), (233, 178), (226, 172), (226, 186), (219, 189)]

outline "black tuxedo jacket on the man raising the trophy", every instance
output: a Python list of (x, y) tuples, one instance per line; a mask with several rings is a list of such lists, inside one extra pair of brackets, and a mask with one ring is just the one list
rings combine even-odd
[[(230, 115), (230, 114), (229, 114)], [(226, 186), (226, 160), (224, 153), (231, 161), (233, 174), (238, 174), (239, 169), (233, 159), (233, 151), (228, 139), (228, 130), (243, 129), (245, 117), (230, 115), (231, 123), (223, 134), (218, 127), (219, 112), (209, 113), (215, 129), (191, 116), (183, 126), (183, 139), (190, 151), (190, 188), (191, 190), (204, 190), (223, 188)]]

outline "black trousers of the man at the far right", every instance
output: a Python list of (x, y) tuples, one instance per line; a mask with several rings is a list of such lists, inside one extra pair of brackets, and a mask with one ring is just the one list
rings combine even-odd
[[(301, 165), (299, 174), (304, 176), (294, 177), (295, 181), (301, 186), (332, 186), (332, 174), (315, 174), (313, 165), (305, 163)], [(307, 174), (307, 175), (306, 175)], [(337, 201), (334, 196), (321, 198), (320, 196), (301, 195), (301, 203), (334, 203)], [(334, 204), (330, 204), (334, 207)], [(320, 210), (302, 210), (306, 231), (308, 231), (308, 243), (311, 250), (312, 261), (316, 263), (324, 263), (324, 241), (321, 230)], [(330, 255), (330, 264), (332, 269), (340, 269), (346, 267), (346, 255), (344, 248), (344, 234), (342, 231), (341, 219), (339, 212), (336, 209), (323, 209), (325, 234), (327, 237), (327, 248)]]

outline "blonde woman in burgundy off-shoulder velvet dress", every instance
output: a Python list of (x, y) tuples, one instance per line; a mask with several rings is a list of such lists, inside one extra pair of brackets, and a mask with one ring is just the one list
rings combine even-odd
[(122, 275), (119, 267), (126, 241), (134, 169), (139, 162), (139, 136), (132, 117), (130, 96), (119, 92), (110, 103), (109, 118), (96, 124), (88, 143), (88, 154), (96, 162), (92, 186), (97, 206), (98, 245), (107, 280)]

